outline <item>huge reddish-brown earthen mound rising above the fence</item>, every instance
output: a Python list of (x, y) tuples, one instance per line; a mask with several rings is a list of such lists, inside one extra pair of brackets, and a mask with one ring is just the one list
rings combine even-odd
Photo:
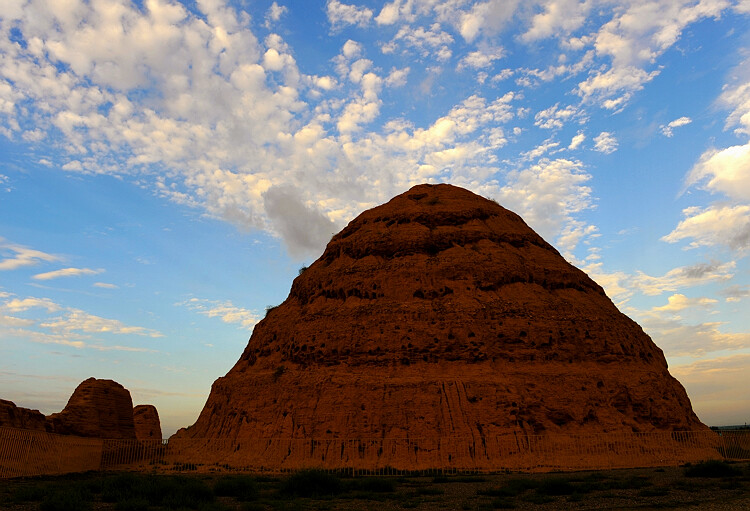
[(441, 438), (705, 429), (661, 350), (518, 215), (420, 185), (333, 237), (178, 438), (422, 439), (434, 455)]

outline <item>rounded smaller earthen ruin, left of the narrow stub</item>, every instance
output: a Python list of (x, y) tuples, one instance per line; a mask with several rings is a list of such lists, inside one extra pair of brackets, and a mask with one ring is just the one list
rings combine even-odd
[(112, 380), (81, 382), (63, 411), (48, 416), (47, 423), (62, 435), (136, 438), (130, 392)]

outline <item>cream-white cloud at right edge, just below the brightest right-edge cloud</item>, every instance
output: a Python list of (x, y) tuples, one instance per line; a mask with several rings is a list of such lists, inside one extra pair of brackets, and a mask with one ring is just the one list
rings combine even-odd
[(682, 214), (685, 219), (663, 241), (692, 239), (690, 248), (724, 245), (741, 252), (750, 249), (750, 205), (690, 207)]

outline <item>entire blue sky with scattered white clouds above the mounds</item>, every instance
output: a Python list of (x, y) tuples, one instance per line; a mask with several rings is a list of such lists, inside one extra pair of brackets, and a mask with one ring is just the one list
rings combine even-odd
[(127, 387), (191, 424), (363, 210), (524, 217), (750, 418), (750, 2), (5, 0), (0, 397)]

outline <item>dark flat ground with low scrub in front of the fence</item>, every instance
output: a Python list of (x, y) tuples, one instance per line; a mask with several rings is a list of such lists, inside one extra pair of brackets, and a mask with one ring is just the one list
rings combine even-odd
[(494, 475), (339, 477), (89, 473), (0, 481), (0, 509), (750, 510), (750, 463)]

